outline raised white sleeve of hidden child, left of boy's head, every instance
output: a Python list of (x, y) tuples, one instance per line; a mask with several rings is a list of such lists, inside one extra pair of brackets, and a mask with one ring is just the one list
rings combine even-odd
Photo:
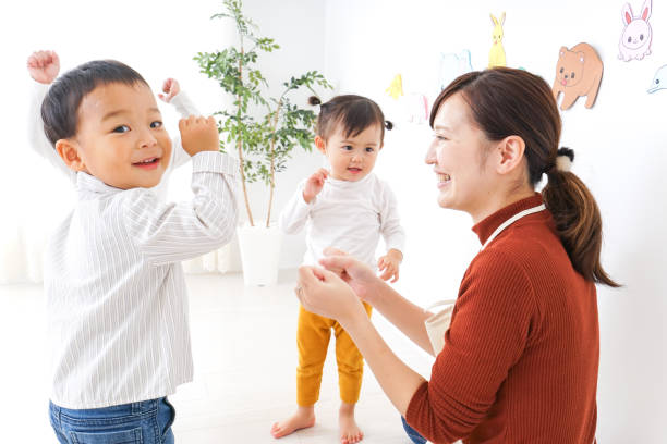
[(41, 102), (49, 91), (49, 85), (33, 82), (33, 94), (28, 107), (28, 145), (33, 151), (48, 160), (58, 171), (65, 174), (72, 182), (76, 182), (76, 172), (70, 170), (62, 161), (56, 148), (44, 134), (44, 121), (41, 120)]

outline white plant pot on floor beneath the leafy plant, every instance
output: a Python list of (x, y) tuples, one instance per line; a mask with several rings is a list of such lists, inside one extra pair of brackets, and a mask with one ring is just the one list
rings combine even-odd
[(282, 244), (282, 233), (278, 226), (240, 226), (237, 236), (245, 285), (275, 285), (278, 282)]

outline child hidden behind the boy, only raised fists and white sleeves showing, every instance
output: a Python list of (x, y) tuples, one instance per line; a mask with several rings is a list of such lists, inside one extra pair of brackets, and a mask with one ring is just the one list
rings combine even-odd
[[(56, 79), (60, 72), (60, 58), (56, 51), (35, 51), (27, 59), (27, 70), (31, 77), (35, 81), (33, 97), (28, 113), (28, 140), (31, 148), (39, 156), (47, 159), (58, 171), (64, 173), (72, 182), (76, 182), (76, 172), (70, 170), (52, 145), (44, 134), (40, 107), (44, 97), (49, 90), (50, 84)], [(166, 103), (173, 104), (181, 118), (198, 115), (194, 103), (187, 95), (181, 90), (179, 83), (174, 78), (167, 78), (162, 84), (162, 92), (158, 97)], [(180, 137), (172, 140), (172, 159), (160, 183), (153, 188), (157, 196), (165, 201), (167, 199), (167, 186), (171, 172), (187, 163), (190, 156), (183, 150)]]

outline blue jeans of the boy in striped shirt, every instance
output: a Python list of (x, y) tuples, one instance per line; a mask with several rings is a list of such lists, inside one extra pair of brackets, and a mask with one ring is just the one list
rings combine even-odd
[(61, 444), (173, 444), (175, 410), (166, 397), (104, 408), (72, 410), (49, 403)]

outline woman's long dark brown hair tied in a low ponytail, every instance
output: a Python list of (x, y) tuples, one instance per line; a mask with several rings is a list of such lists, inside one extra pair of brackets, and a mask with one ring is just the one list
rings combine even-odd
[(547, 83), (509, 67), (463, 74), (433, 103), (432, 127), (440, 104), (458, 92), (488, 140), (512, 135), (523, 139), (533, 188), (547, 174), (542, 197), (574, 269), (587, 281), (618, 287), (601, 264), (602, 219), (593, 195), (577, 175), (556, 166), (561, 122)]

